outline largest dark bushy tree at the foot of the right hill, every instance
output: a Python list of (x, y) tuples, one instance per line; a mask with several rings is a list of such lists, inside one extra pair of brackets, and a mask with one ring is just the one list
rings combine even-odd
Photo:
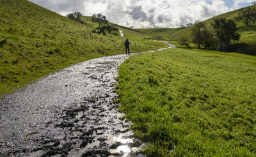
[(215, 29), (215, 36), (220, 43), (220, 50), (225, 50), (231, 40), (239, 40), (240, 34), (237, 33), (236, 23), (233, 20), (214, 19), (212, 27)]

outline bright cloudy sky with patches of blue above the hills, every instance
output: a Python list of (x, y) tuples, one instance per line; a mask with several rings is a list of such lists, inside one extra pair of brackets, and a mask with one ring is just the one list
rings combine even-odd
[(102, 13), (134, 28), (179, 27), (252, 4), (253, 0), (29, 0), (61, 15)]

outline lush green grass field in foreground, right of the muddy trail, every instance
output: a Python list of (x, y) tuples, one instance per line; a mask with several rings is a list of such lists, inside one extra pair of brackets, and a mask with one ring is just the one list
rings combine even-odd
[(149, 156), (256, 156), (256, 57), (168, 49), (130, 57), (117, 80)]

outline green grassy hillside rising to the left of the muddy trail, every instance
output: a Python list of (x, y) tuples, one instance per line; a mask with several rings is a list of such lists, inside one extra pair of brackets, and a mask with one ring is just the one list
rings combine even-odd
[[(92, 33), (92, 22), (83, 25), (26, 0), (0, 6), (0, 95), (70, 64), (124, 53), (124, 39)], [(139, 37), (132, 52), (164, 46)]]

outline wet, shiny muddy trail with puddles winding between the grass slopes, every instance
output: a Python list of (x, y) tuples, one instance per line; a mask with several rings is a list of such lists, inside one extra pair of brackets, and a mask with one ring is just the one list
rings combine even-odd
[(118, 67), (128, 57), (74, 64), (6, 96), (0, 156), (143, 156), (115, 103)]

